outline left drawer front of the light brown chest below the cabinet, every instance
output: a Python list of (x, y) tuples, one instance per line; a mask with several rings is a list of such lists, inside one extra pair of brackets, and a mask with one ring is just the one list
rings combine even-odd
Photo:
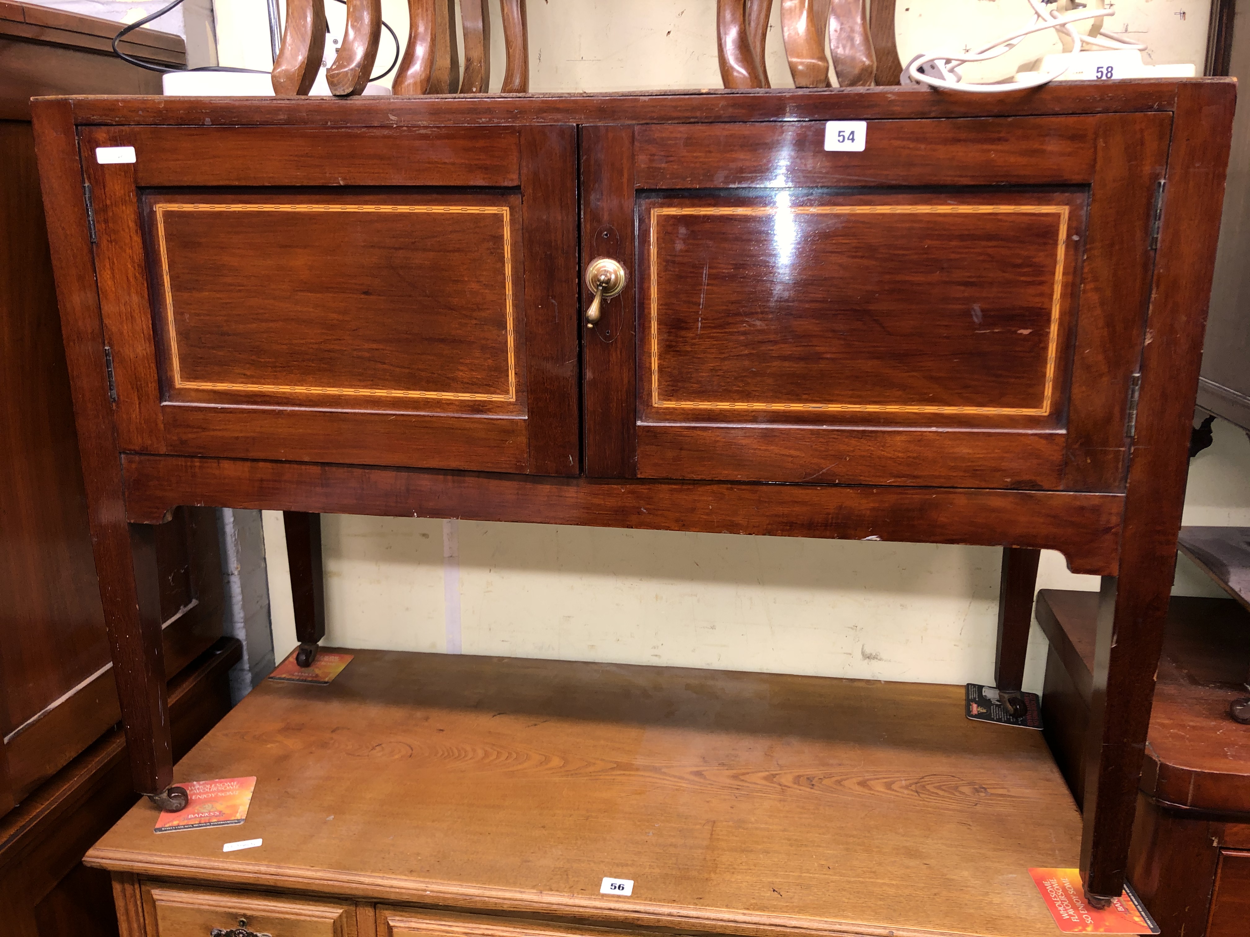
[(145, 885), (144, 917), (148, 937), (210, 937), (214, 928), (235, 927), (271, 937), (356, 937), (354, 905), (244, 892)]

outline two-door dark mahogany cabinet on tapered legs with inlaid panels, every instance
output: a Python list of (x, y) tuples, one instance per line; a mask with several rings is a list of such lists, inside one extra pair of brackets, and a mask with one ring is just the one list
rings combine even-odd
[(1106, 577), (1081, 865), (1118, 895), (1232, 105), (36, 102), (138, 787), (179, 805), (131, 561), (178, 505), (1000, 545), (1005, 691), (1048, 547)]

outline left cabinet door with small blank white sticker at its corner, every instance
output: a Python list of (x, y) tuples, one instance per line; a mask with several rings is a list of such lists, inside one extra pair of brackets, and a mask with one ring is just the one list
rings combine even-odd
[(122, 450), (579, 471), (572, 127), (80, 145)]

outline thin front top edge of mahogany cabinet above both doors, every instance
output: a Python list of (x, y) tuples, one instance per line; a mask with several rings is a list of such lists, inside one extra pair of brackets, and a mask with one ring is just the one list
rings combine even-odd
[[(416, 97), (69, 99), (78, 124), (385, 126), (455, 124), (632, 124), (742, 120), (924, 119), (1170, 111), (1185, 89), (1235, 95), (1236, 80), (1054, 82), (1031, 91), (971, 95), (919, 86), (804, 90), (688, 90), (630, 94), (428, 95)], [(38, 106), (38, 104), (36, 104)]]

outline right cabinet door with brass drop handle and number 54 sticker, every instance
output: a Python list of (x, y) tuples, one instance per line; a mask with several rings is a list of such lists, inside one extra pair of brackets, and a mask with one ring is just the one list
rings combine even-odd
[(1170, 125), (585, 127), (589, 473), (1119, 490)]

